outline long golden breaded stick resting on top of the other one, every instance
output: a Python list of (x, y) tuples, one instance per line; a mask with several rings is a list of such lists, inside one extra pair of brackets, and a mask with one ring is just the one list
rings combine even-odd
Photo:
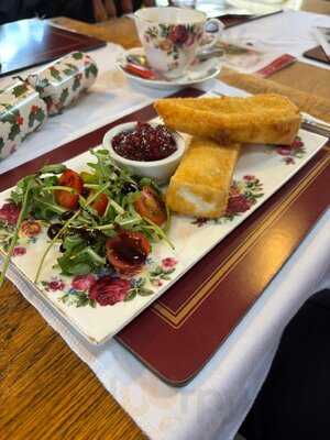
[(290, 144), (300, 127), (298, 108), (274, 94), (158, 99), (155, 109), (169, 129), (220, 143)]

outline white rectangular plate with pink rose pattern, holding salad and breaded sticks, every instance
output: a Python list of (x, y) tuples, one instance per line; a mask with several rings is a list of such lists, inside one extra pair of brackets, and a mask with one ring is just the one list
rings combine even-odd
[[(175, 250), (166, 243), (154, 244), (144, 272), (132, 279), (119, 278), (109, 270), (87, 276), (63, 276), (54, 266), (59, 255), (58, 248), (54, 246), (43, 266), (41, 282), (34, 285), (37, 262), (48, 239), (45, 228), (33, 221), (21, 229), (12, 267), (29, 282), (36, 295), (42, 295), (88, 341), (103, 343), (277, 191), (326, 142), (323, 136), (300, 130), (290, 147), (244, 146), (235, 168), (226, 216), (217, 220), (173, 216), (169, 239)], [(92, 161), (87, 152), (66, 162), (66, 165), (80, 172), (87, 167), (87, 162)], [(10, 189), (0, 194), (0, 207), (9, 195)], [(7, 220), (11, 215), (6, 213)], [(11, 228), (0, 223), (2, 252), (12, 234)], [(194, 270), (198, 271), (198, 266)]]

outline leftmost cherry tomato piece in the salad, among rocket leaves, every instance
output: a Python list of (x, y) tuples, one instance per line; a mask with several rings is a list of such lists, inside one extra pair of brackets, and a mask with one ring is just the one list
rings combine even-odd
[(55, 191), (55, 199), (58, 205), (67, 209), (77, 209), (79, 194), (84, 190), (84, 180), (78, 173), (73, 169), (66, 169), (58, 179), (58, 185), (74, 188), (77, 194), (57, 189)]

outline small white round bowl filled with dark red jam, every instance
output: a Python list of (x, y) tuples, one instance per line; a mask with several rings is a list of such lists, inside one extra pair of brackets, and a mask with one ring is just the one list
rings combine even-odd
[(128, 122), (108, 131), (103, 146), (119, 166), (164, 184), (180, 162), (185, 141), (158, 122)]

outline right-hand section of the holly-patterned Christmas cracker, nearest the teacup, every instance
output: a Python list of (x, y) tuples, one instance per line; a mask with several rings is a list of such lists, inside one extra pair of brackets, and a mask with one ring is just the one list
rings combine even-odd
[(73, 52), (29, 75), (26, 80), (46, 101), (48, 113), (57, 114), (95, 82), (97, 74), (97, 65), (89, 55)]

